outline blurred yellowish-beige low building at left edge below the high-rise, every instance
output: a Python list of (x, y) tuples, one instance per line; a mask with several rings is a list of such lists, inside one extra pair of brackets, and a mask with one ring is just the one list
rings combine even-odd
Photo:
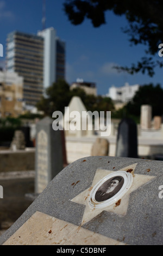
[(23, 77), (0, 71), (0, 117), (18, 117), (23, 109)]

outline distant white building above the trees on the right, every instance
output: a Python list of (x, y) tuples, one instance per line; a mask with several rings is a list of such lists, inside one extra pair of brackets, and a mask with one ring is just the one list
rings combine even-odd
[(115, 102), (126, 103), (133, 99), (137, 90), (139, 90), (139, 84), (134, 84), (130, 86), (129, 83), (125, 83), (122, 87), (111, 86), (109, 88), (109, 93), (106, 96), (110, 97)]

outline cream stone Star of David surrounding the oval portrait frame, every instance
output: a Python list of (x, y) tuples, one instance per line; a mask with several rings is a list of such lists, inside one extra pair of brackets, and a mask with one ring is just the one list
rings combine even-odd
[(131, 185), (131, 187), (129, 188), (127, 193), (124, 194), (124, 196), (122, 196), (122, 198), (120, 200), (120, 204), (114, 203), (114, 204), (107, 206), (105, 208), (102, 208), (102, 209), (90, 208), (90, 206), (88, 204), (88, 198), (90, 196), (90, 192), (99, 180), (103, 179), (108, 174), (116, 173), (116, 172), (111, 171), (111, 170), (103, 170), (103, 169), (96, 170), (91, 187), (87, 188), (85, 191), (78, 194), (78, 196), (71, 199), (71, 201), (74, 203), (85, 205), (85, 210), (84, 210), (81, 226), (84, 225), (86, 222), (89, 222), (90, 220), (92, 220), (92, 218), (101, 214), (102, 211), (114, 212), (114, 214), (118, 214), (118, 215), (126, 215), (127, 214), (130, 193), (135, 191), (137, 188), (141, 187), (142, 185), (146, 184), (147, 182), (151, 181), (153, 178), (155, 178), (155, 176), (135, 174), (134, 171), (135, 171), (136, 165), (137, 165), (137, 163), (134, 163), (134, 164), (131, 164), (127, 167), (120, 169), (123, 171), (133, 169), (132, 170), (133, 184)]

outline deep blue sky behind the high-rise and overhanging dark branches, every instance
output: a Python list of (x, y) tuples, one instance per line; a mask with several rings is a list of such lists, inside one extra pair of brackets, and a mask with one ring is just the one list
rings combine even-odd
[[(154, 77), (118, 73), (112, 65), (136, 63), (145, 56), (145, 46), (130, 47), (128, 35), (121, 30), (127, 25), (126, 19), (106, 13), (106, 25), (94, 28), (90, 20), (74, 26), (68, 21), (62, 4), (64, 0), (46, 0), (46, 27), (54, 27), (60, 39), (66, 42), (66, 81), (77, 78), (95, 82), (100, 95), (108, 93), (109, 87), (129, 84), (160, 83), (162, 70), (156, 70)], [(34, 33), (42, 29), (42, 0), (0, 0), (0, 43), (4, 46), (7, 34), (12, 31)], [(160, 57), (155, 56), (160, 60)]]

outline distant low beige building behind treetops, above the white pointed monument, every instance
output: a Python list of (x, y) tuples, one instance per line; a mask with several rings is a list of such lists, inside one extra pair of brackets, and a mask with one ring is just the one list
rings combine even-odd
[(97, 96), (96, 83), (84, 82), (82, 79), (78, 78), (77, 82), (73, 82), (71, 84), (70, 90), (73, 90), (74, 88), (81, 88), (85, 91), (86, 94)]

